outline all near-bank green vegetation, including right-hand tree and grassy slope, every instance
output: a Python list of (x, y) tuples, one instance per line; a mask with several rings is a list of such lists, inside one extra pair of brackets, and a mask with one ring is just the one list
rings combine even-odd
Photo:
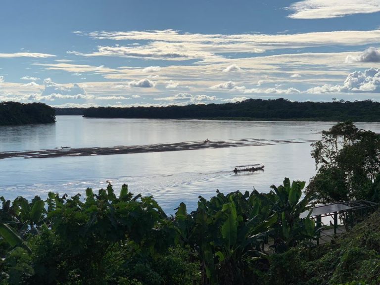
[(380, 210), (319, 246), (314, 220), (300, 218), (316, 197), (376, 201), (378, 140), (339, 123), (313, 144), (319, 171), (304, 196), (305, 182), (285, 178), (269, 193), (199, 196), (170, 217), (127, 185), (118, 196), (109, 184), (84, 198), (0, 197), (0, 285), (378, 285)]

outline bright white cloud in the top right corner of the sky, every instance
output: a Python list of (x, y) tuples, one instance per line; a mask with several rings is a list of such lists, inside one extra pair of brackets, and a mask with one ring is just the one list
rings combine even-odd
[(380, 0), (302, 0), (290, 5), (292, 19), (325, 19), (380, 11)]

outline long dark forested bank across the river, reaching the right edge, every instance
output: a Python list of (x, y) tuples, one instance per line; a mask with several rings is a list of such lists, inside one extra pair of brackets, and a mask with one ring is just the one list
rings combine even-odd
[(237, 103), (167, 107), (91, 107), (89, 118), (214, 119), (273, 121), (380, 121), (380, 103), (371, 100), (292, 102), (248, 99)]

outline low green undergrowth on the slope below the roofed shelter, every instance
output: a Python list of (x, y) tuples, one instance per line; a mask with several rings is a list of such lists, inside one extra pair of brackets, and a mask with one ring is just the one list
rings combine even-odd
[(380, 211), (349, 233), (316, 248), (292, 248), (270, 257), (264, 285), (380, 284)]

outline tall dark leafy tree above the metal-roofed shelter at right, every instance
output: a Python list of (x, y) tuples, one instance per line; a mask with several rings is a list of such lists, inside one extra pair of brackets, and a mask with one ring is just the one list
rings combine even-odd
[(323, 131), (322, 139), (312, 146), (318, 171), (307, 192), (315, 193), (319, 202), (377, 199), (380, 135), (346, 121)]

